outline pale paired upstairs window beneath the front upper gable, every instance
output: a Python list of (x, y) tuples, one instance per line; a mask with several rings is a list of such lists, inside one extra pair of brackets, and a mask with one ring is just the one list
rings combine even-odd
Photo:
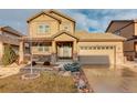
[(38, 27), (39, 33), (50, 33), (50, 25), (49, 24), (40, 24)]

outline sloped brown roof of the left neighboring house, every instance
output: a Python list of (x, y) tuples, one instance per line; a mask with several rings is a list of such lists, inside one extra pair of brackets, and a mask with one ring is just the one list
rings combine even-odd
[(0, 27), (0, 30), (12, 33), (18, 37), (23, 37), (23, 34), (11, 27)]

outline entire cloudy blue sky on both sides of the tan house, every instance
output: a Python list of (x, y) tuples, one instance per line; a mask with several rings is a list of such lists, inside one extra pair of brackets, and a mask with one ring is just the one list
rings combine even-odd
[[(10, 25), (28, 34), (28, 18), (41, 9), (0, 9), (0, 25)], [(137, 9), (60, 9), (76, 20), (76, 30), (104, 32), (112, 20), (137, 19)]]

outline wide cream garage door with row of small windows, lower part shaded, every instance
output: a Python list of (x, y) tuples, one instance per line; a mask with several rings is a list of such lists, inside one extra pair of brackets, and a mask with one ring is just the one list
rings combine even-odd
[(114, 45), (83, 45), (78, 51), (80, 62), (82, 64), (114, 64)]

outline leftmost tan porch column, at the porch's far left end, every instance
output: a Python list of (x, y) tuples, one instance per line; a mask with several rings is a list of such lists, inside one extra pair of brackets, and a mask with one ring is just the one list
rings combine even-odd
[(19, 45), (19, 63), (21, 64), (24, 60), (24, 43), (23, 41), (20, 41)]

